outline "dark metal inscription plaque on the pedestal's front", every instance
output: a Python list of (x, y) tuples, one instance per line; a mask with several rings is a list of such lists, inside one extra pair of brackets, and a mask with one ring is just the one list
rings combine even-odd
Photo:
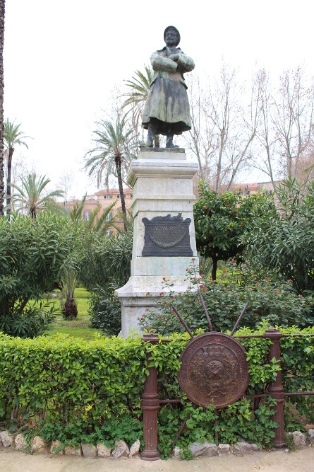
[(191, 218), (183, 220), (179, 213), (174, 217), (142, 219), (145, 226), (143, 256), (186, 256), (193, 255), (189, 226)]

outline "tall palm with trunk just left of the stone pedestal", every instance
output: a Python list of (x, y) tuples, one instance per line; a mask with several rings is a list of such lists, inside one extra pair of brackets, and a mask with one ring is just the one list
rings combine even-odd
[(126, 117), (116, 117), (116, 122), (109, 120), (97, 122), (98, 128), (93, 131), (95, 136), (92, 139), (95, 142), (95, 148), (85, 154), (90, 156), (85, 163), (85, 169), (88, 169), (88, 175), (97, 173), (97, 185), (99, 186), (102, 176), (105, 177), (105, 183), (108, 186), (109, 176), (116, 175), (119, 185), (119, 194), (121, 200), (122, 213), (126, 215), (126, 203), (123, 193), (123, 164), (128, 167), (134, 159), (131, 153), (133, 129), (126, 129)]

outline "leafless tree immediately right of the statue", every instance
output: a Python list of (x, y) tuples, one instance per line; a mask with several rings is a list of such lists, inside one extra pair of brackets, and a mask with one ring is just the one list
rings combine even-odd
[(200, 176), (219, 192), (229, 190), (238, 173), (250, 164), (250, 147), (260, 114), (259, 89), (238, 82), (235, 70), (222, 66), (218, 79), (190, 85), (192, 129), (188, 147), (198, 159)]

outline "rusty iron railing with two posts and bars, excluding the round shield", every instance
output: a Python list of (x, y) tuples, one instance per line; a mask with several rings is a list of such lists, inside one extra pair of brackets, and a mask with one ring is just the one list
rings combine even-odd
[[(235, 335), (234, 338), (267, 338), (272, 341), (270, 345), (270, 352), (268, 359), (275, 358), (277, 364), (280, 367), (280, 339), (294, 336), (303, 336), (301, 334), (282, 334), (277, 329), (268, 329), (264, 334), (258, 335)], [(311, 336), (310, 334), (306, 336)], [(171, 338), (159, 338), (158, 335), (153, 333), (143, 335), (142, 340), (145, 343), (158, 344), (169, 343)], [(147, 353), (147, 364), (150, 354)], [(159, 459), (160, 454), (158, 451), (158, 411), (160, 405), (164, 403), (180, 403), (181, 399), (162, 399), (159, 400), (158, 388), (157, 388), (157, 369), (155, 367), (148, 367), (149, 374), (145, 381), (144, 391), (142, 396), (142, 410), (143, 410), (143, 434), (145, 449), (140, 454), (142, 459), (147, 461), (155, 461)], [(314, 391), (307, 392), (284, 392), (282, 386), (282, 372), (277, 372), (276, 379), (268, 386), (267, 393), (248, 395), (245, 398), (265, 398), (266, 396), (272, 396), (276, 400), (274, 407), (275, 413), (272, 419), (277, 422), (277, 427), (274, 428), (274, 447), (282, 448), (286, 445), (284, 442), (284, 398), (286, 396), (306, 396), (314, 395)], [(181, 427), (183, 430), (184, 427)], [(182, 431), (181, 431), (182, 432)], [(181, 434), (179, 432), (179, 434)], [(178, 438), (178, 436), (177, 436)], [(176, 438), (176, 439), (177, 439)]]

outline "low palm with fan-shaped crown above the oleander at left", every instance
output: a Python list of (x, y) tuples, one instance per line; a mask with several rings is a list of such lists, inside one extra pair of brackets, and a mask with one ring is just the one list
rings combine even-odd
[(21, 180), (21, 187), (13, 183), (11, 184), (16, 190), (12, 195), (12, 201), (13, 204), (18, 205), (18, 210), (23, 211), (27, 209), (32, 219), (36, 218), (37, 213), (41, 209), (45, 209), (54, 200), (54, 197), (63, 197), (64, 195), (64, 192), (61, 190), (45, 192), (45, 188), (50, 182), (46, 175), (39, 175), (37, 178), (36, 173), (30, 173), (25, 178), (21, 178)]

